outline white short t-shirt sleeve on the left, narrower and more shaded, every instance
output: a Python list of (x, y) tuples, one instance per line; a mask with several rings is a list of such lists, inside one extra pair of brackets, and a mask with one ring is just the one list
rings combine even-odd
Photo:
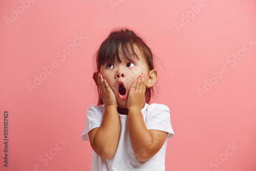
[(100, 127), (104, 114), (103, 108), (91, 105), (86, 113), (86, 124), (83, 127), (81, 139), (89, 141), (88, 133), (95, 127)]

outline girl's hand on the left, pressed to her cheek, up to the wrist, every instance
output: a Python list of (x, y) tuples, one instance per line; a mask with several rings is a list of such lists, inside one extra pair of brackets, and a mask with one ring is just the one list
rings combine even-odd
[(108, 81), (103, 79), (102, 74), (98, 73), (98, 86), (101, 93), (101, 98), (105, 106), (113, 105), (117, 108), (117, 100), (115, 93), (111, 89)]

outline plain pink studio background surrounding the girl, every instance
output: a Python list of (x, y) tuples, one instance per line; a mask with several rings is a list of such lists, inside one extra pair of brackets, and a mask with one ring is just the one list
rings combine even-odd
[[(137, 31), (162, 61), (154, 102), (169, 107), (176, 134), (168, 140), (166, 170), (256, 170), (256, 44), (246, 43), (256, 42), (255, 1), (2, 0), (0, 6), (1, 170), (90, 170), (92, 149), (80, 135), (97, 101), (92, 57), (116, 27)], [(64, 58), (62, 48), (72, 52)], [(236, 53), (242, 57), (230, 56)], [(45, 75), (42, 67), (51, 63)], [(39, 75), (44, 80), (30, 91), (27, 84)]]

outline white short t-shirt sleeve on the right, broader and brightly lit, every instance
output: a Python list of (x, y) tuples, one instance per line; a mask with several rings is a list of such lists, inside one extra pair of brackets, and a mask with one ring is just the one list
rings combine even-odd
[[(156, 103), (154, 103), (156, 104)], [(148, 130), (160, 130), (167, 132), (166, 139), (174, 136), (172, 124), (170, 123), (170, 111), (168, 106), (164, 104), (156, 104), (145, 120)]]

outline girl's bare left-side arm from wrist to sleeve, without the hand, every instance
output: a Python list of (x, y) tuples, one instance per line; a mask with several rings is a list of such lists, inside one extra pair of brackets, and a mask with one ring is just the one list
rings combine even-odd
[(89, 133), (93, 151), (103, 159), (114, 156), (119, 138), (119, 119), (116, 106), (105, 106), (105, 112), (100, 127)]

